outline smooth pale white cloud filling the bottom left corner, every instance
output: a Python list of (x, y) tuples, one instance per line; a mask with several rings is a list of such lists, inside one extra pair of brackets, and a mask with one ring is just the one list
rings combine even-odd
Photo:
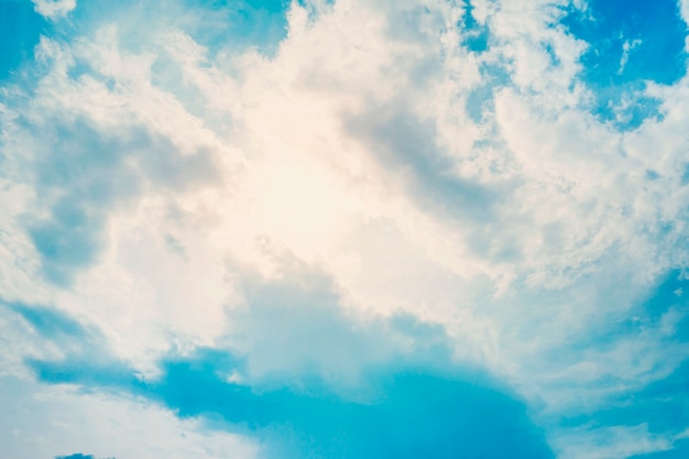
[(237, 434), (136, 398), (0, 378), (2, 453), (53, 458), (81, 452), (118, 459), (252, 459), (260, 447)]

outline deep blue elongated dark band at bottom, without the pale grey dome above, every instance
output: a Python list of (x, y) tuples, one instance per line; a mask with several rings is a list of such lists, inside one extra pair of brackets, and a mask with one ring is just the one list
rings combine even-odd
[(144, 382), (118, 380), (95, 368), (36, 363), (42, 381), (130, 392), (182, 418), (203, 416), (216, 429), (254, 437), (262, 445), (261, 457), (499, 458), (507, 451), (553, 457), (520, 402), (473, 370), (434, 374), (403, 363), (374, 368), (354, 393), (343, 396), (318, 379), (299, 386), (272, 383), (274, 389), (236, 383), (232, 379), (244, 371), (243, 363), (217, 350), (171, 357), (161, 367), (158, 379)]

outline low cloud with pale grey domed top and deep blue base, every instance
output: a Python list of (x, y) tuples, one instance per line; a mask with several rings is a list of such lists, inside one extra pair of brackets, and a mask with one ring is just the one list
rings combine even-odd
[[(302, 271), (292, 282), (250, 282), (251, 304), (233, 315), (237, 331), (227, 337), (238, 356), (179, 350), (157, 362), (160, 374), (142, 378), (98, 349), (107, 345), (96, 337), (88, 348), (63, 341), (63, 358), (26, 364), (41, 383), (75, 384), (98, 398), (144, 397), (182, 419), (254, 438), (261, 457), (551, 457), (514, 394), (451, 362), (441, 326), (412, 316), (361, 323), (341, 313), (324, 281)], [(55, 337), (52, 328), (37, 331)]]

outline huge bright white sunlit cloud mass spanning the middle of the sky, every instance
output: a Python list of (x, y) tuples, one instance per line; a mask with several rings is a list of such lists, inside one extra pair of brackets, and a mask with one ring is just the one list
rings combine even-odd
[[(95, 324), (144, 372), (174, 346), (212, 345), (260, 349), (256, 373), (297, 371), (326, 359), (281, 361), (271, 353), (298, 352), (294, 337), (247, 343), (228, 331), (247, 305), (247, 273), (284, 280), (288, 253), (329, 276), (357, 318), (404, 310), (444, 324), (458, 359), (489, 365), (548, 413), (577, 409), (572, 387), (603, 404), (620, 390), (598, 384), (603, 376), (631, 381), (626, 390), (666, 375), (659, 328), (606, 350), (586, 330), (624, 317), (686, 265), (687, 80), (650, 87), (664, 119), (617, 132), (582, 109), (584, 45), (550, 26), (561, 12), (475, 3), (491, 32), (480, 55), (457, 46), (462, 8), (439, 1), (342, 0), (310, 15), (293, 3), (270, 58), (209, 50), (163, 20), (135, 46), (125, 24), (44, 39), (35, 92), (1, 112), (12, 174), (1, 183), (11, 205), (0, 209), (0, 291)], [(477, 121), (466, 106), (483, 86)], [(43, 159), (69, 157), (55, 153), (62, 133), (47, 134), (58, 122), (74, 144), (85, 123), (121, 155), (102, 175), (121, 177), (98, 206), (102, 247), (68, 288), (42, 278), (21, 223), (95, 174), (76, 157), (84, 175), (34, 182)], [(549, 353), (572, 342), (583, 350)]]

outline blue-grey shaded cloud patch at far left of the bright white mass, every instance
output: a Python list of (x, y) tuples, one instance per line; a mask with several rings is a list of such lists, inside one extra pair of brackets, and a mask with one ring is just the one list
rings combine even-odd
[[(103, 41), (112, 39), (108, 32), (103, 34)], [(15, 127), (7, 152), (10, 162), (19, 161), (17, 173), (23, 174), (36, 192), (33, 212), (26, 212), (22, 220), (41, 255), (45, 276), (58, 284), (68, 284), (75, 271), (96, 261), (106, 243), (110, 208), (135, 203), (147, 186), (182, 192), (217, 176), (211, 145), (201, 141), (187, 145), (196, 149), (189, 154), (174, 154), (176, 146), (156, 133), (155, 121), (150, 129), (133, 127), (121, 114), (103, 110), (101, 98), (114, 97), (108, 89), (107, 69), (97, 76), (100, 80), (79, 75), (73, 79), (66, 74), (76, 66), (75, 58), (91, 51), (84, 46), (73, 54), (57, 43), (42, 42), (37, 53), (50, 70), (34, 103), (47, 107), (36, 109), (32, 122)], [(132, 57), (125, 65), (135, 62)], [(70, 91), (90, 95), (91, 103), (75, 103)], [(22, 97), (13, 103), (21, 103)], [(123, 110), (122, 114), (129, 111), (125, 107), (113, 110)], [(13, 124), (11, 119), (8, 122)], [(165, 130), (167, 125), (158, 128)], [(39, 132), (47, 142), (33, 151), (31, 139)]]

